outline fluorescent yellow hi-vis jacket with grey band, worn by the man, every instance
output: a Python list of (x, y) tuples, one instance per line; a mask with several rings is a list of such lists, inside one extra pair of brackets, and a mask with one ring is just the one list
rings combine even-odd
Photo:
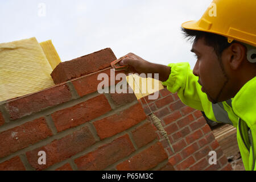
[(169, 64), (171, 75), (163, 82), (167, 89), (178, 94), (180, 100), (194, 109), (204, 111), (212, 121), (228, 123), (237, 128), (237, 142), (246, 171), (256, 170), (256, 77), (247, 82), (236, 96), (228, 101), (212, 104), (201, 91), (188, 63)]

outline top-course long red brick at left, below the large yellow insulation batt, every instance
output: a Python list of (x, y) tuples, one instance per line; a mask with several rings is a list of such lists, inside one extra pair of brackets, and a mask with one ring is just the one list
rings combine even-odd
[(68, 86), (59, 85), (7, 102), (5, 107), (9, 112), (10, 119), (18, 119), (48, 107), (63, 104), (71, 98)]

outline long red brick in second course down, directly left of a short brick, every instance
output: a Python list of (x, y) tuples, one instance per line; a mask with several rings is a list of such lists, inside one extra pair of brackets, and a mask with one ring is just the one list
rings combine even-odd
[(104, 95), (51, 114), (58, 132), (81, 125), (112, 110)]

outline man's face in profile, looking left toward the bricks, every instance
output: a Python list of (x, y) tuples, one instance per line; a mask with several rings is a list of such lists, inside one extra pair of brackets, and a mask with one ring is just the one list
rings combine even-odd
[(218, 59), (214, 48), (206, 46), (204, 38), (200, 38), (193, 44), (191, 51), (197, 56), (193, 74), (199, 77), (202, 91), (207, 94), (209, 101), (213, 104), (225, 101), (228, 76), (226, 76), (222, 60)]

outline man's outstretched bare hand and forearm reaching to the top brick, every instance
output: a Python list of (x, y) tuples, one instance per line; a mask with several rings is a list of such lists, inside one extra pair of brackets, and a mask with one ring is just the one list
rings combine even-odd
[(134, 53), (128, 53), (127, 58), (123, 59), (119, 64), (120, 65), (129, 65), (129, 73), (152, 73), (154, 78), (154, 73), (159, 74), (160, 81), (166, 81), (171, 73), (171, 68), (166, 65), (150, 63), (141, 57), (135, 55)]

